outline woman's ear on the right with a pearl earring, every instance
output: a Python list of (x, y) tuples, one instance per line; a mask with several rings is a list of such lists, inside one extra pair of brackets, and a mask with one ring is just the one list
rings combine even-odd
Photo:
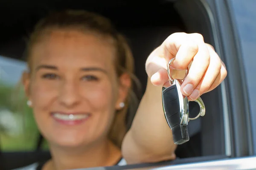
[(131, 88), (131, 77), (129, 74), (124, 73), (119, 77), (119, 94), (116, 100), (116, 110), (120, 110), (123, 107), (121, 103), (125, 103), (125, 99), (128, 96), (128, 92)]

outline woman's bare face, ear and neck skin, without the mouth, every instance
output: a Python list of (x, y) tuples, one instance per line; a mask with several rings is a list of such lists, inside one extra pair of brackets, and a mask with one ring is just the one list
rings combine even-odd
[[(110, 166), (121, 158), (107, 135), (130, 83), (125, 75), (117, 78), (114, 55), (108, 41), (77, 31), (54, 30), (33, 47), (24, 87), (53, 156), (44, 169)], [(63, 125), (53, 112), (90, 116), (82, 124)]]

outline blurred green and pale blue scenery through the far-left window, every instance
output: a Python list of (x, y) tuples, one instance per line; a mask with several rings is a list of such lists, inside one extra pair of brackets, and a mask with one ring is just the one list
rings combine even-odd
[(0, 56), (0, 144), (1, 150), (34, 150), (38, 128), (20, 77), (26, 62)]

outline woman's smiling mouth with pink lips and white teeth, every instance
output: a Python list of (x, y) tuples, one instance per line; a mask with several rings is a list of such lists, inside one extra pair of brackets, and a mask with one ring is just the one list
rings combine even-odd
[(78, 125), (82, 122), (86, 121), (89, 117), (89, 113), (61, 113), (61, 112), (53, 112), (51, 113), (53, 119), (56, 122), (65, 125)]

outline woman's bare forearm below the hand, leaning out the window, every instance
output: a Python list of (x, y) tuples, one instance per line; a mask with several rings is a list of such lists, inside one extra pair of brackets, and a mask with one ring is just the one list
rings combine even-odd
[(148, 79), (134, 122), (122, 144), (122, 154), (128, 163), (175, 159), (176, 145), (163, 114), (161, 95), (162, 88)]

